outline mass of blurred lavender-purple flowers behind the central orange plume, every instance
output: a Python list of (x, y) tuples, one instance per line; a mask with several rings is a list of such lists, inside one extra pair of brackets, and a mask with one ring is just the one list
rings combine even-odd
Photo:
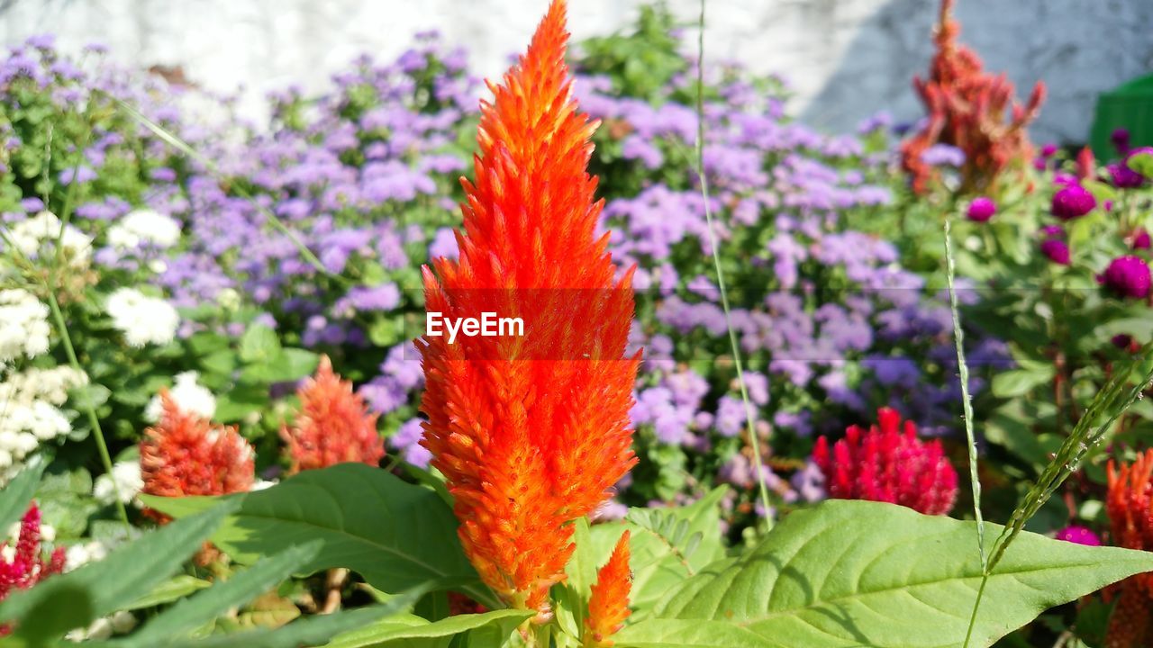
[[(160, 99), (171, 97), (163, 80), (133, 85), (137, 77), (107, 66), (89, 77), (61, 67), (51, 50), (42, 56), (58, 71), (45, 73), (17, 52), (0, 76), (32, 68), (33, 75), (75, 76), (78, 91), (133, 103), (216, 160), (213, 168), (180, 160), (130, 121), (99, 131), (84, 164), (59, 176), (61, 184), (92, 189), (77, 214), (111, 224), (145, 204), (182, 226), (180, 244), (169, 250), (129, 258), (108, 248), (99, 258), (118, 268), (150, 264), (184, 312), (203, 315), (239, 299), (286, 344), (329, 354), (341, 372), (359, 377), (392, 447), (427, 465), (415, 409), (423, 376), (407, 340), (423, 306), (420, 265), (457, 254), (458, 178), (472, 155), (466, 134), (480, 96), (464, 53), (421, 35), (392, 62), (355, 61), (327, 95), (288, 89), (272, 96), (267, 129), (205, 127)], [(641, 455), (671, 451), (677, 465), (656, 466), (657, 473), (695, 472), (751, 488), (741, 451), (749, 421), (729, 360), (731, 324), (751, 367), (744, 387), (753, 427), (771, 439), (770, 487), (786, 503), (816, 499), (819, 472), (804, 464), (814, 431), (843, 429), (882, 405), (924, 430), (954, 427), (958, 386), (947, 302), (902, 268), (895, 246), (850, 226), (890, 204), (889, 155), (857, 136), (827, 136), (790, 121), (781, 96), (732, 67), (709, 70), (717, 99), (703, 112), (701, 171), (713, 188), (706, 202), (686, 155), (698, 114), (677, 99), (692, 91), (694, 77), (675, 76), (661, 101), (620, 93), (606, 77), (579, 75), (575, 84), (582, 108), (603, 122), (594, 158), (604, 180), (602, 226), (612, 232), (615, 261), (638, 266), (632, 341), (646, 348), (646, 361), (632, 417), (639, 443), (655, 449)], [(227, 100), (214, 105), (228, 113)], [(130, 138), (144, 142), (137, 160), (144, 180), (122, 195), (107, 179), (116, 160), (134, 155)], [(973, 219), (987, 220), (988, 206), (974, 203)], [(24, 204), (6, 219), (35, 209)], [(728, 316), (707, 212), (729, 273)], [(182, 333), (212, 325), (211, 315), (191, 315)], [(243, 325), (220, 331), (238, 336)], [(982, 354), (986, 362), (1003, 360), (992, 342), (974, 353), (978, 364)], [(719, 476), (701, 474), (717, 466)], [(693, 490), (640, 485), (631, 499), (675, 500)]]

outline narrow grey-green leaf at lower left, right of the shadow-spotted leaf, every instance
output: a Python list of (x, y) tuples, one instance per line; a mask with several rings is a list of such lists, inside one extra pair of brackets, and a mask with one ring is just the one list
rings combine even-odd
[(319, 549), (319, 542), (310, 542), (264, 558), (249, 570), (186, 598), (153, 617), (143, 630), (133, 635), (133, 639), (144, 642), (159, 641), (194, 630), (214, 619), (218, 615), (247, 603), (276, 587), (277, 583), (292, 575), (300, 565), (315, 558)]

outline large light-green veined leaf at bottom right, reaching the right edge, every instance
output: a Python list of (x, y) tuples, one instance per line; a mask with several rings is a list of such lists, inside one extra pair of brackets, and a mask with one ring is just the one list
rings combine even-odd
[[(660, 618), (615, 639), (621, 648), (959, 647), (981, 585), (974, 538), (973, 522), (826, 502), (686, 580)], [(1151, 570), (1153, 553), (1024, 533), (988, 579), (970, 645), (990, 646), (1048, 608)]]

